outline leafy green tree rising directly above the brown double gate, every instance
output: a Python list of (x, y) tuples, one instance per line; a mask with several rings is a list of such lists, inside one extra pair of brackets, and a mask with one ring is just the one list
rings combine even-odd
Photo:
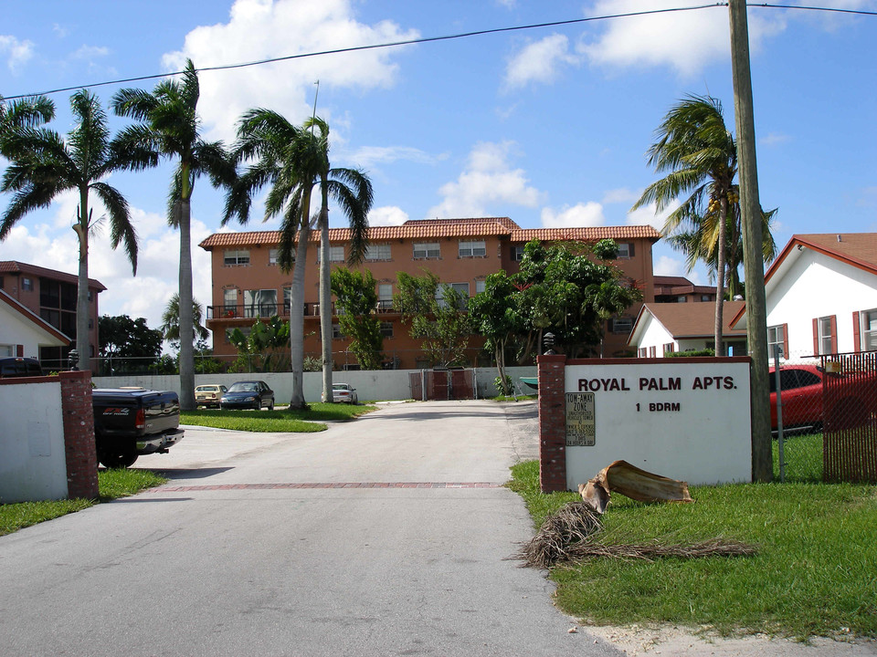
[(466, 311), (469, 298), (429, 272), (424, 276), (399, 272), (397, 276), (399, 292), (393, 304), (402, 322), (410, 325), (411, 337), (422, 339), (421, 348), (432, 366), (465, 364), (472, 333)]

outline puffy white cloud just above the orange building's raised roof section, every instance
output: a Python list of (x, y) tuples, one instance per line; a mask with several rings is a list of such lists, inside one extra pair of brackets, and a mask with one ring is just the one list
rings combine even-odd
[(471, 217), (490, 214), (490, 207), (511, 203), (535, 207), (542, 194), (529, 185), (523, 169), (512, 169), (513, 141), (481, 142), (470, 152), (467, 170), (439, 189), (444, 200), (431, 207), (428, 217)]

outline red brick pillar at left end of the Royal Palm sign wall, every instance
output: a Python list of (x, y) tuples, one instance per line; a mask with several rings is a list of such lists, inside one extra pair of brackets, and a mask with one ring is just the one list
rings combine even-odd
[(540, 356), (539, 485), (543, 493), (566, 490), (566, 406), (563, 354)]

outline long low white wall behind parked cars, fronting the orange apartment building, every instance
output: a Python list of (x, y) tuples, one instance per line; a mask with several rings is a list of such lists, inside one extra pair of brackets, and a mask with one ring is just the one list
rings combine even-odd
[[(522, 394), (532, 394), (534, 391), (520, 385), (519, 377), (536, 376), (536, 367), (512, 367), (506, 368), (516, 391)], [(411, 399), (411, 386), (408, 376), (411, 372), (417, 374), (420, 370), (360, 370), (360, 371), (334, 371), (333, 383), (350, 383), (356, 389), (360, 401), (383, 401), (383, 400), (406, 400)], [(493, 380), (497, 376), (495, 368), (477, 368), (476, 382), (478, 396), (495, 397), (496, 388)], [(196, 374), (195, 385), (203, 383), (219, 383), (227, 386), (235, 381), (261, 380), (268, 383), (274, 391), (280, 403), (289, 401), (292, 397), (292, 375), (289, 372), (249, 374)], [(171, 390), (180, 392), (180, 377), (177, 375), (164, 376), (136, 376), (136, 377), (94, 377), (92, 379), (98, 388), (119, 388), (120, 386), (137, 385), (153, 390)], [(308, 403), (320, 401), (322, 392), (322, 372), (304, 373), (304, 399)]]

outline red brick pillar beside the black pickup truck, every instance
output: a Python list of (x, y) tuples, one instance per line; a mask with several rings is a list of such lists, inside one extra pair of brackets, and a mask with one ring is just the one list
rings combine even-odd
[(62, 371), (58, 377), (61, 380), (64, 451), (67, 454), (67, 496), (70, 499), (97, 499), (98, 457), (94, 449), (91, 372)]

